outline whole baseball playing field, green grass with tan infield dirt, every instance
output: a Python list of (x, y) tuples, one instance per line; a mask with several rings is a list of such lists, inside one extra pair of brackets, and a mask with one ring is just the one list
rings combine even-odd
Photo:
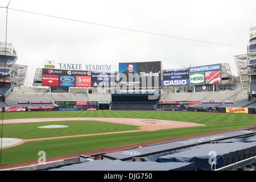
[[(1, 166), (4, 166), (38, 160), (39, 151), (45, 151), (47, 158), (53, 158), (154, 140), (250, 127), (256, 124), (256, 115), (181, 111), (35, 111), (3, 113), (1, 123), (3, 138), (23, 140), (17, 146), (2, 149)], [(169, 126), (170, 123), (172, 126)], [(46, 125), (68, 127), (38, 128)], [(153, 129), (157, 125), (162, 128)]]

